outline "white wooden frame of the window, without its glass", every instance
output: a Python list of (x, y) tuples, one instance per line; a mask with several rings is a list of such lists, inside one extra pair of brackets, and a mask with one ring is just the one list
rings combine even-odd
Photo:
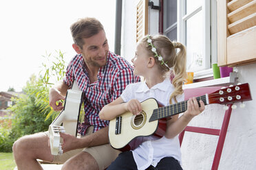
[[(211, 77), (213, 75), (211, 64), (217, 63), (217, 7), (216, 0), (203, 0), (202, 6), (195, 9), (189, 14), (186, 12), (186, 1), (177, 1), (177, 39), (178, 42), (186, 42), (186, 21), (202, 10), (204, 17), (203, 32), (203, 62), (202, 70), (195, 71), (194, 79)], [(213, 26), (213, 27), (211, 27)]]

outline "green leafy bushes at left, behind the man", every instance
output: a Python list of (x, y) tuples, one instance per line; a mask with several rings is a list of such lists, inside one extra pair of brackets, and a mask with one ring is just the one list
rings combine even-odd
[(54, 81), (62, 80), (65, 75), (65, 62), (63, 53), (59, 51), (57, 56), (51, 54), (44, 56), (47, 60), (43, 63), (39, 79), (35, 75), (30, 77), (23, 88), (24, 95), (12, 99), (15, 102), (9, 110), (13, 119), (11, 129), (6, 125), (0, 127), (0, 151), (12, 151), (12, 145), (17, 138), (26, 134), (34, 134), (48, 130), (51, 116), (58, 114), (49, 106), (49, 89)]

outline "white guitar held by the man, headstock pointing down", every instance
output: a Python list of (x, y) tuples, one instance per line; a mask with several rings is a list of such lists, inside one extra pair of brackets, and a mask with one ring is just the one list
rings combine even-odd
[(83, 92), (78, 88), (76, 80), (67, 90), (63, 110), (49, 126), (50, 149), (52, 155), (62, 154), (60, 132), (76, 136)]

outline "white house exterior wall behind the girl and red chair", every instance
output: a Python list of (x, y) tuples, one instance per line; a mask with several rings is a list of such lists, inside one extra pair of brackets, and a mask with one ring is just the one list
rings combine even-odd
[[(123, 1), (121, 56), (127, 60), (134, 57), (136, 49), (136, 4), (138, 0)], [(154, 1), (158, 5), (158, 1)], [(149, 34), (158, 32), (158, 15), (149, 13)], [(238, 66), (239, 82), (250, 85), (250, 93), (256, 99), (256, 64)], [(246, 101), (246, 108), (233, 110), (228, 125), (226, 140), (220, 159), (220, 170), (246, 169), (256, 167), (256, 102)], [(202, 114), (189, 125), (220, 129), (224, 118), (223, 106), (206, 106)], [(184, 170), (211, 169), (218, 136), (185, 132), (182, 142), (182, 167)]]

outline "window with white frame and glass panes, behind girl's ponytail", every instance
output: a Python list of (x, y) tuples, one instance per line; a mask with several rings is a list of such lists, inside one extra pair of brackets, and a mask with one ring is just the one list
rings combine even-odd
[(217, 62), (216, 0), (164, 0), (163, 8), (164, 34), (186, 46), (187, 71), (212, 73), (211, 64)]

